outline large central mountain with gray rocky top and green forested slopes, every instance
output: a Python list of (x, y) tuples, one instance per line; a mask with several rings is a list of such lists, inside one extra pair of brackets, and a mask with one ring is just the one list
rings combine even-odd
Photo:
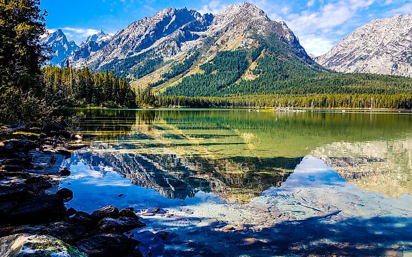
[[(151, 85), (171, 97), (396, 94), (412, 87), (406, 78), (322, 67), (284, 21), (271, 20), (247, 2), (216, 15), (167, 8), (113, 36), (99, 32), (66, 60), (78, 69), (113, 70), (136, 90)], [(282, 103), (272, 104), (277, 105)]]

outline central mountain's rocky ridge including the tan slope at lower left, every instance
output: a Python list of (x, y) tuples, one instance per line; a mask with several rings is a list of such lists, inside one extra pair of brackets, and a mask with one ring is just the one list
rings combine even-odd
[[(106, 37), (104, 32), (103, 37), (89, 37), (67, 59), (75, 68), (114, 70), (140, 87), (161, 82), (163, 73), (194, 52), (200, 53), (195, 60), (200, 65), (220, 51), (252, 51), (259, 47), (259, 37), (272, 34), (294, 45), (300, 55), (307, 56), (286, 23), (272, 21), (263, 10), (245, 2), (231, 5), (217, 15), (167, 8), (153, 17), (131, 23), (112, 37)], [(100, 42), (98, 38), (104, 40)], [(196, 73), (198, 65), (190, 67), (185, 74)], [(178, 74), (177, 78), (180, 77)]]

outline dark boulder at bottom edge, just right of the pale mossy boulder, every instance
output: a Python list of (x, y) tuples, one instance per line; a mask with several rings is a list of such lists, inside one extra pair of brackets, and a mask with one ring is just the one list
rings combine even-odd
[(118, 257), (132, 255), (138, 242), (123, 234), (100, 234), (80, 240), (77, 245), (89, 257)]

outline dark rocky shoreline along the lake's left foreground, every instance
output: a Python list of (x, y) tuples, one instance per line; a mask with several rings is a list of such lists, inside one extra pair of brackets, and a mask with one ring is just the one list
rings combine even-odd
[(70, 175), (60, 165), (81, 140), (55, 132), (0, 143), (0, 256), (143, 256), (140, 242), (125, 235), (146, 226), (133, 208), (88, 214), (65, 207), (73, 192), (58, 190), (59, 177)]

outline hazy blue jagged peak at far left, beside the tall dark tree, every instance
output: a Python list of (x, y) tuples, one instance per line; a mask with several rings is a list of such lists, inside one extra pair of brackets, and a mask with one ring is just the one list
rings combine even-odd
[(79, 48), (75, 41), (68, 41), (66, 35), (60, 29), (43, 37), (40, 43), (52, 49), (52, 59), (48, 61), (52, 65), (58, 65), (65, 58), (73, 55)]

